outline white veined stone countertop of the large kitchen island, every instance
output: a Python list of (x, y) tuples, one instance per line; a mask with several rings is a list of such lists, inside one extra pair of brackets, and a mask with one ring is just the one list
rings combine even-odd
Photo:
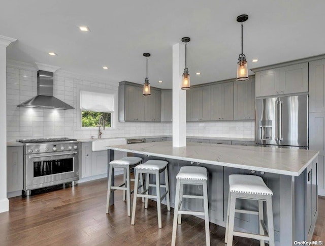
[(319, 151), (208, 143), (186, 143), (173, 147), (171, 141), (107, 146), (108, 149), (183, 161), (299, 176)]

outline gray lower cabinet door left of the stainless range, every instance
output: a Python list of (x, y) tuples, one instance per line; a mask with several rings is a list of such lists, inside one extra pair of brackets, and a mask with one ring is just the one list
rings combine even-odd
[(7, 147), (7, 192), (23, 189), (23, 146)]

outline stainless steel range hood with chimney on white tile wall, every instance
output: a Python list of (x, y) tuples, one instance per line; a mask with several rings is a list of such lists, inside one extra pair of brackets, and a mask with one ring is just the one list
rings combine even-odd
[(53, 97), (53, 73), (43, 70), (37, 72), (37, 96), (19, 104), (17, 107), (75, 109)]

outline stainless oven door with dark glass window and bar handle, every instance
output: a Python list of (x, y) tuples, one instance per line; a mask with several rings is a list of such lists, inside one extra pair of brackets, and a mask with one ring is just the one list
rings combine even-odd
[(25, 191), (79, 179), (78, 151), (32, 154), (25, 158)]

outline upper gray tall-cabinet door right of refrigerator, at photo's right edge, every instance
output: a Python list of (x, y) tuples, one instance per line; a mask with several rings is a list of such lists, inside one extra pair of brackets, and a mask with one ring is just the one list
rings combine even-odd
[(309, 112), (325, 112), (325, 59), (309, 63)]

